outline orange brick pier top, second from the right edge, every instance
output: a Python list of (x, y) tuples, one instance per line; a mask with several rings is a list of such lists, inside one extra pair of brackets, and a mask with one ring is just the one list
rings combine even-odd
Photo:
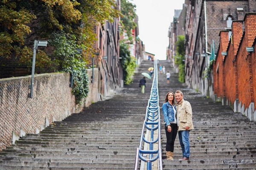
[(234, 46), (234, 56), (236, 56), (241, 38), (243, 36), (243, 21), (233, 21), (232, 22), (232, 41)]

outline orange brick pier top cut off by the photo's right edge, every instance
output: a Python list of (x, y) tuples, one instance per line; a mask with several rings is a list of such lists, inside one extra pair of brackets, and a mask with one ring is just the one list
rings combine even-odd
[(256, 37), (256, 13), (246, 13), (244, 16), (244, 32), (247, 38), (247, 47), (253, 45)]

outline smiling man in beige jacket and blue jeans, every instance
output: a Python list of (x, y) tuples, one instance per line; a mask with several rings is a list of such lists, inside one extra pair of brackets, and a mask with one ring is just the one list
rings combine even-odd
[(183, 155), (180, 160), (189, 160), (189, 131), (194, 129), (192, 108), (190, 103), (183, 99), (183, 93), (180, 90), (175, 92), (175, 99), (177, 100), (178, 134)]

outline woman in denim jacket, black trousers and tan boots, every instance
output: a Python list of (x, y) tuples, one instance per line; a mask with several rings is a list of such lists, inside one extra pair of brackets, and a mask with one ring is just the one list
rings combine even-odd
[(166, 156), (167, 160), (173, 160), (174, 142), (177, 136), (177, 118), (175, 107), (175, 96), (172, 91), (166, 94), (165, 102), (162, 107), (166, 130)]

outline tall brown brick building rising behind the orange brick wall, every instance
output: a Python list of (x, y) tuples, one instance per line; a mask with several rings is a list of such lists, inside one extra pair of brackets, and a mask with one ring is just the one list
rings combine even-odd
[(219, 32), (228, 31), (230, 39), (232, 22), (243, 20), (247, 12), (256, 12), (256, 1), (185, 0), (185, 6), (185, 81), (213, 98), (214, 81), (206, 71), (220, 47)]

